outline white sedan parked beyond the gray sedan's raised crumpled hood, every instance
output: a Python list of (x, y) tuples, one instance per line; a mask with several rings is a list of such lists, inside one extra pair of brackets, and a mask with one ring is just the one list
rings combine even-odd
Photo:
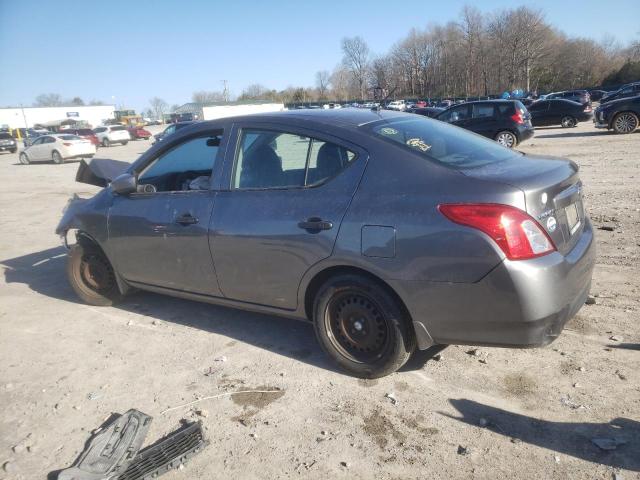
[(72, 158), (91, 158), (96, 146), (77, 135), (42, 135), (20, 152), (20, 163), (53, 161), (63, 163)]

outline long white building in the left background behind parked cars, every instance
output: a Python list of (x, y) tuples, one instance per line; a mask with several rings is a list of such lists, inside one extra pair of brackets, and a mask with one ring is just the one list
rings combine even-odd
[(0, 127), (33, 128), (36, 125), (69, 119), (84, 121), (96, 127), (105, 120), (113, 119), (114, 111), (113, 105), (0, 108)]

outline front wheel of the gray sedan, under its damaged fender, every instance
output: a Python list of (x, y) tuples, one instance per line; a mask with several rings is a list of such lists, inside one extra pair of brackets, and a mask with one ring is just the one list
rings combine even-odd
[(69, 250), (67, 278), (76, 295), (89, 305), (108, 307), (122, 300), (111, 263), (89, 241), (78, 242)]

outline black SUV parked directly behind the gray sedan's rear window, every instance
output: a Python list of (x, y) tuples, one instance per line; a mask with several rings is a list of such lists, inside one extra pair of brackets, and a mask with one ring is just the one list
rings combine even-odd
[(518, 100), (481, 100), (455, 105), (437, 120), (478, 133), (513, 148), (533, 136), (531, 114)]

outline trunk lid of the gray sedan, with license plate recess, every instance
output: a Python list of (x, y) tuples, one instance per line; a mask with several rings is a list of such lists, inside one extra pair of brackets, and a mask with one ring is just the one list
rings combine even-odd
[(585, 223), (578, 170), (578, 165), (570, 160), (523, 154), (461, 172), (521, 190), (527, 213), (545, 229), (558, 251), (565, 254), (577, 243)]

